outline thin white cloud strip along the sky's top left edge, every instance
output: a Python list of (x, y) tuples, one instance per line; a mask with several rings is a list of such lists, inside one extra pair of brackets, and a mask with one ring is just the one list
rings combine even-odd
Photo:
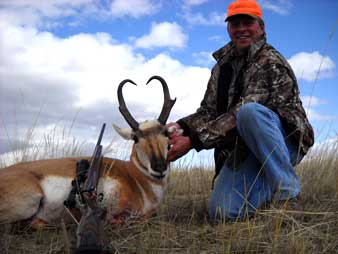
[(52, 29), (79, 26), (88, 18), (139, 18), (159, 8), (160, 4), (153, 0), (1, 0), (0, 20), (12, 25)]

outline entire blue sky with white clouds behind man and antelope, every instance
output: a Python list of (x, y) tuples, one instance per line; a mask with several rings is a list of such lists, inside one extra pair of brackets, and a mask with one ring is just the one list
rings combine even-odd
[[(138, 121), (161, 111), (160, 84), (145, 86), (153, 75), (177, 98), (169, 121), (195, 112), (215, 64), (211, 54), (229, 42), (230, 2), (0, 0), (0, 154), (27, 139), (95, 143), (103, 122), (103, 143), (128, 153), (111, 128), (127, 127), (116, 95), (126, 78), (138, 84), (124, 87)], [(337, 138), (338, 1), (258, 3), (268, 42), (298, 78), (316, 143)]]

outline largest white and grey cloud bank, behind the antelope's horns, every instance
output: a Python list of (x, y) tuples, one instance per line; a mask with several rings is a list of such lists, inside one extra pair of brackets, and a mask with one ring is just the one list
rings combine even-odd
[(60, 119), (74, 120), (79, 108), (73, 131), (79, 137), (95, 139), (97, 132), (91, 128), (103, 121), (126, 126), (116, 96), (125, 78), (138, 83), (124, 89), (132, 114), (138, 121), (153, 119), (160, 113), (163, 94), (157, 81), (144, 85), (152, 75), (163, 76), (172, 97), (178, 98), (171, 114), (176, 120), (199, 106), (210, 76), (208, 68), (183, 65), (167, 54), (147, 59), (106, 33), (60, 38), (0, 22), (0, 52), (6, 52), (0, 58), (1, 120), (17, 135), (24, 135), (23, 128), (30, 128), (37, 115), (41, 128), (36, 130), (43, 131), (44, 125)]

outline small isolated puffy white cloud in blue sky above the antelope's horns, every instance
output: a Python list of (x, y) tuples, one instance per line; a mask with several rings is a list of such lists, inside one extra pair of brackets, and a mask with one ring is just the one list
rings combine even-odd
[(186, 46), (188, 36), (184, 34), (182, 28), (176, 23), (154, 23), (149, 34), (136, 39), (137, 48), (183, 48)]

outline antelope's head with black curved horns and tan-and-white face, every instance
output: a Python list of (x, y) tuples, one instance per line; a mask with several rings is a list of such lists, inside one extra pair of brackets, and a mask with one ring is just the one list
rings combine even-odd
[(147, 84), (153, 79), (160, 81), (164, 94), (164, 102), (158, 119), (138, 123), (132, 117), (126, 107), (122, 88), (124, 84), (128, 82), (134, 85), (136, 84), (132, 80), (126, 79), (119, 84), (117, 97), (119, 101), (119, 110), (130, 128), (122, 129), (116, 125), (113, 125), (113, 127), (121, 137), (134, 141), (131, 161), (135, 166), (145, 175), (160, 180), (168, 173), (166, 158), (169, 133), (165, 124), (176, 99), (171, 100), (168, 85), (160, 76), (151, 77)]

